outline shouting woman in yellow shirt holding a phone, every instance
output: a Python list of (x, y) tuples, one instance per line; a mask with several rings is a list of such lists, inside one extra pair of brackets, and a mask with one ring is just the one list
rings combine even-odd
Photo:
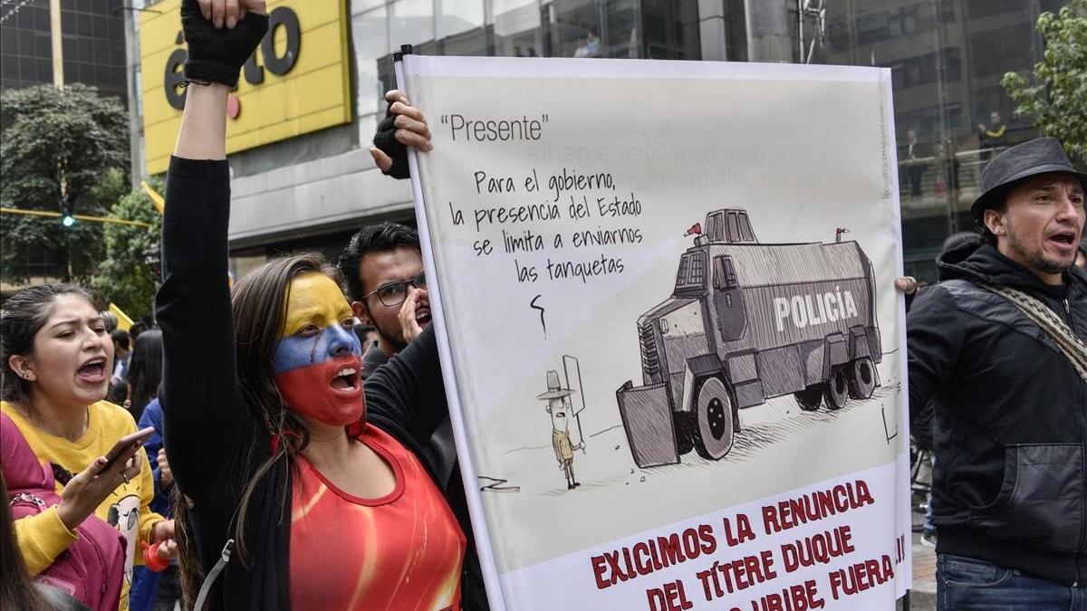
[(173, 521), (149, 509), (154, 488), (142, 448), (102, 469), (117, 439), (136, 431), (127, 411), (103, 400), (113, 369), (105, 325), (82, 288), (40, 285), (4, 303), (0, 340), (0, 410), (38, 460), (50, 463), (62, 497), (14, 524), (27, 570), (45, 571), (76, 540), (76, 527), (97, 515), (128, 543), (120, 600), (126, 610), (133, 563), (142, 561), (140, 541), (164, 543), (163, 554), (176, 553), (176, 544)]

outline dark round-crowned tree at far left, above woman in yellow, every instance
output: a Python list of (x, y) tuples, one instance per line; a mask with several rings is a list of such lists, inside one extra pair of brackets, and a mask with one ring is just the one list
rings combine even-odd
[[(107, 180), (110, 169), (128, 167), (128, 113), (93, 87), (49, 85), (13, 89), (0, 97), (0, 204), (60, 211), (62, 196), (75, 213), (103, 215), (128, 190), (124, 176)], [(0, 278), (24, 282), (29, 261), (55, 263), (62, 279), (86, 280), (102, 257), (102, 226), (59, 219), (0, 216)], [(70, 274), (71, 272), (71, 274)]]

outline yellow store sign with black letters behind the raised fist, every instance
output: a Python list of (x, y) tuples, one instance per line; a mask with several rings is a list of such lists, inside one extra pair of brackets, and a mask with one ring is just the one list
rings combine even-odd
[[(147, 170), (166, 170), (185, 108), (179, 0), (140, 21)], [(304, 50), (303, 50), (304, 48)], [(345, 0), (268, 2), (268, 33), (227, 103), (226, 150), (237, 152), (351, 121)]]

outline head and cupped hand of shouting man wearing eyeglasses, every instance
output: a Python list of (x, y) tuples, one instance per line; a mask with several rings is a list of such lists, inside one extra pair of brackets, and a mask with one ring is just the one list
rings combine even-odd
[(430, 324), (418, 234), (398, 223), (367, 225), (351, 238), (336, 266), (355, 317), (377, 329), (377, 344), (362, 356), (365, 378)]

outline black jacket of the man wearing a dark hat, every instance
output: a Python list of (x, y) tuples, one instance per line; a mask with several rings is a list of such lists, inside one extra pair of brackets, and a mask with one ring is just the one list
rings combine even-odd
[(1036, 324), (977, 282), (1041, 300), (1087, 341), (1087, 274), (1047, 286), (991, 246), (937, 262), (908, 315), (910, 406), (935, 410), (937, 551), (1087, 579), (1087, 383)]

